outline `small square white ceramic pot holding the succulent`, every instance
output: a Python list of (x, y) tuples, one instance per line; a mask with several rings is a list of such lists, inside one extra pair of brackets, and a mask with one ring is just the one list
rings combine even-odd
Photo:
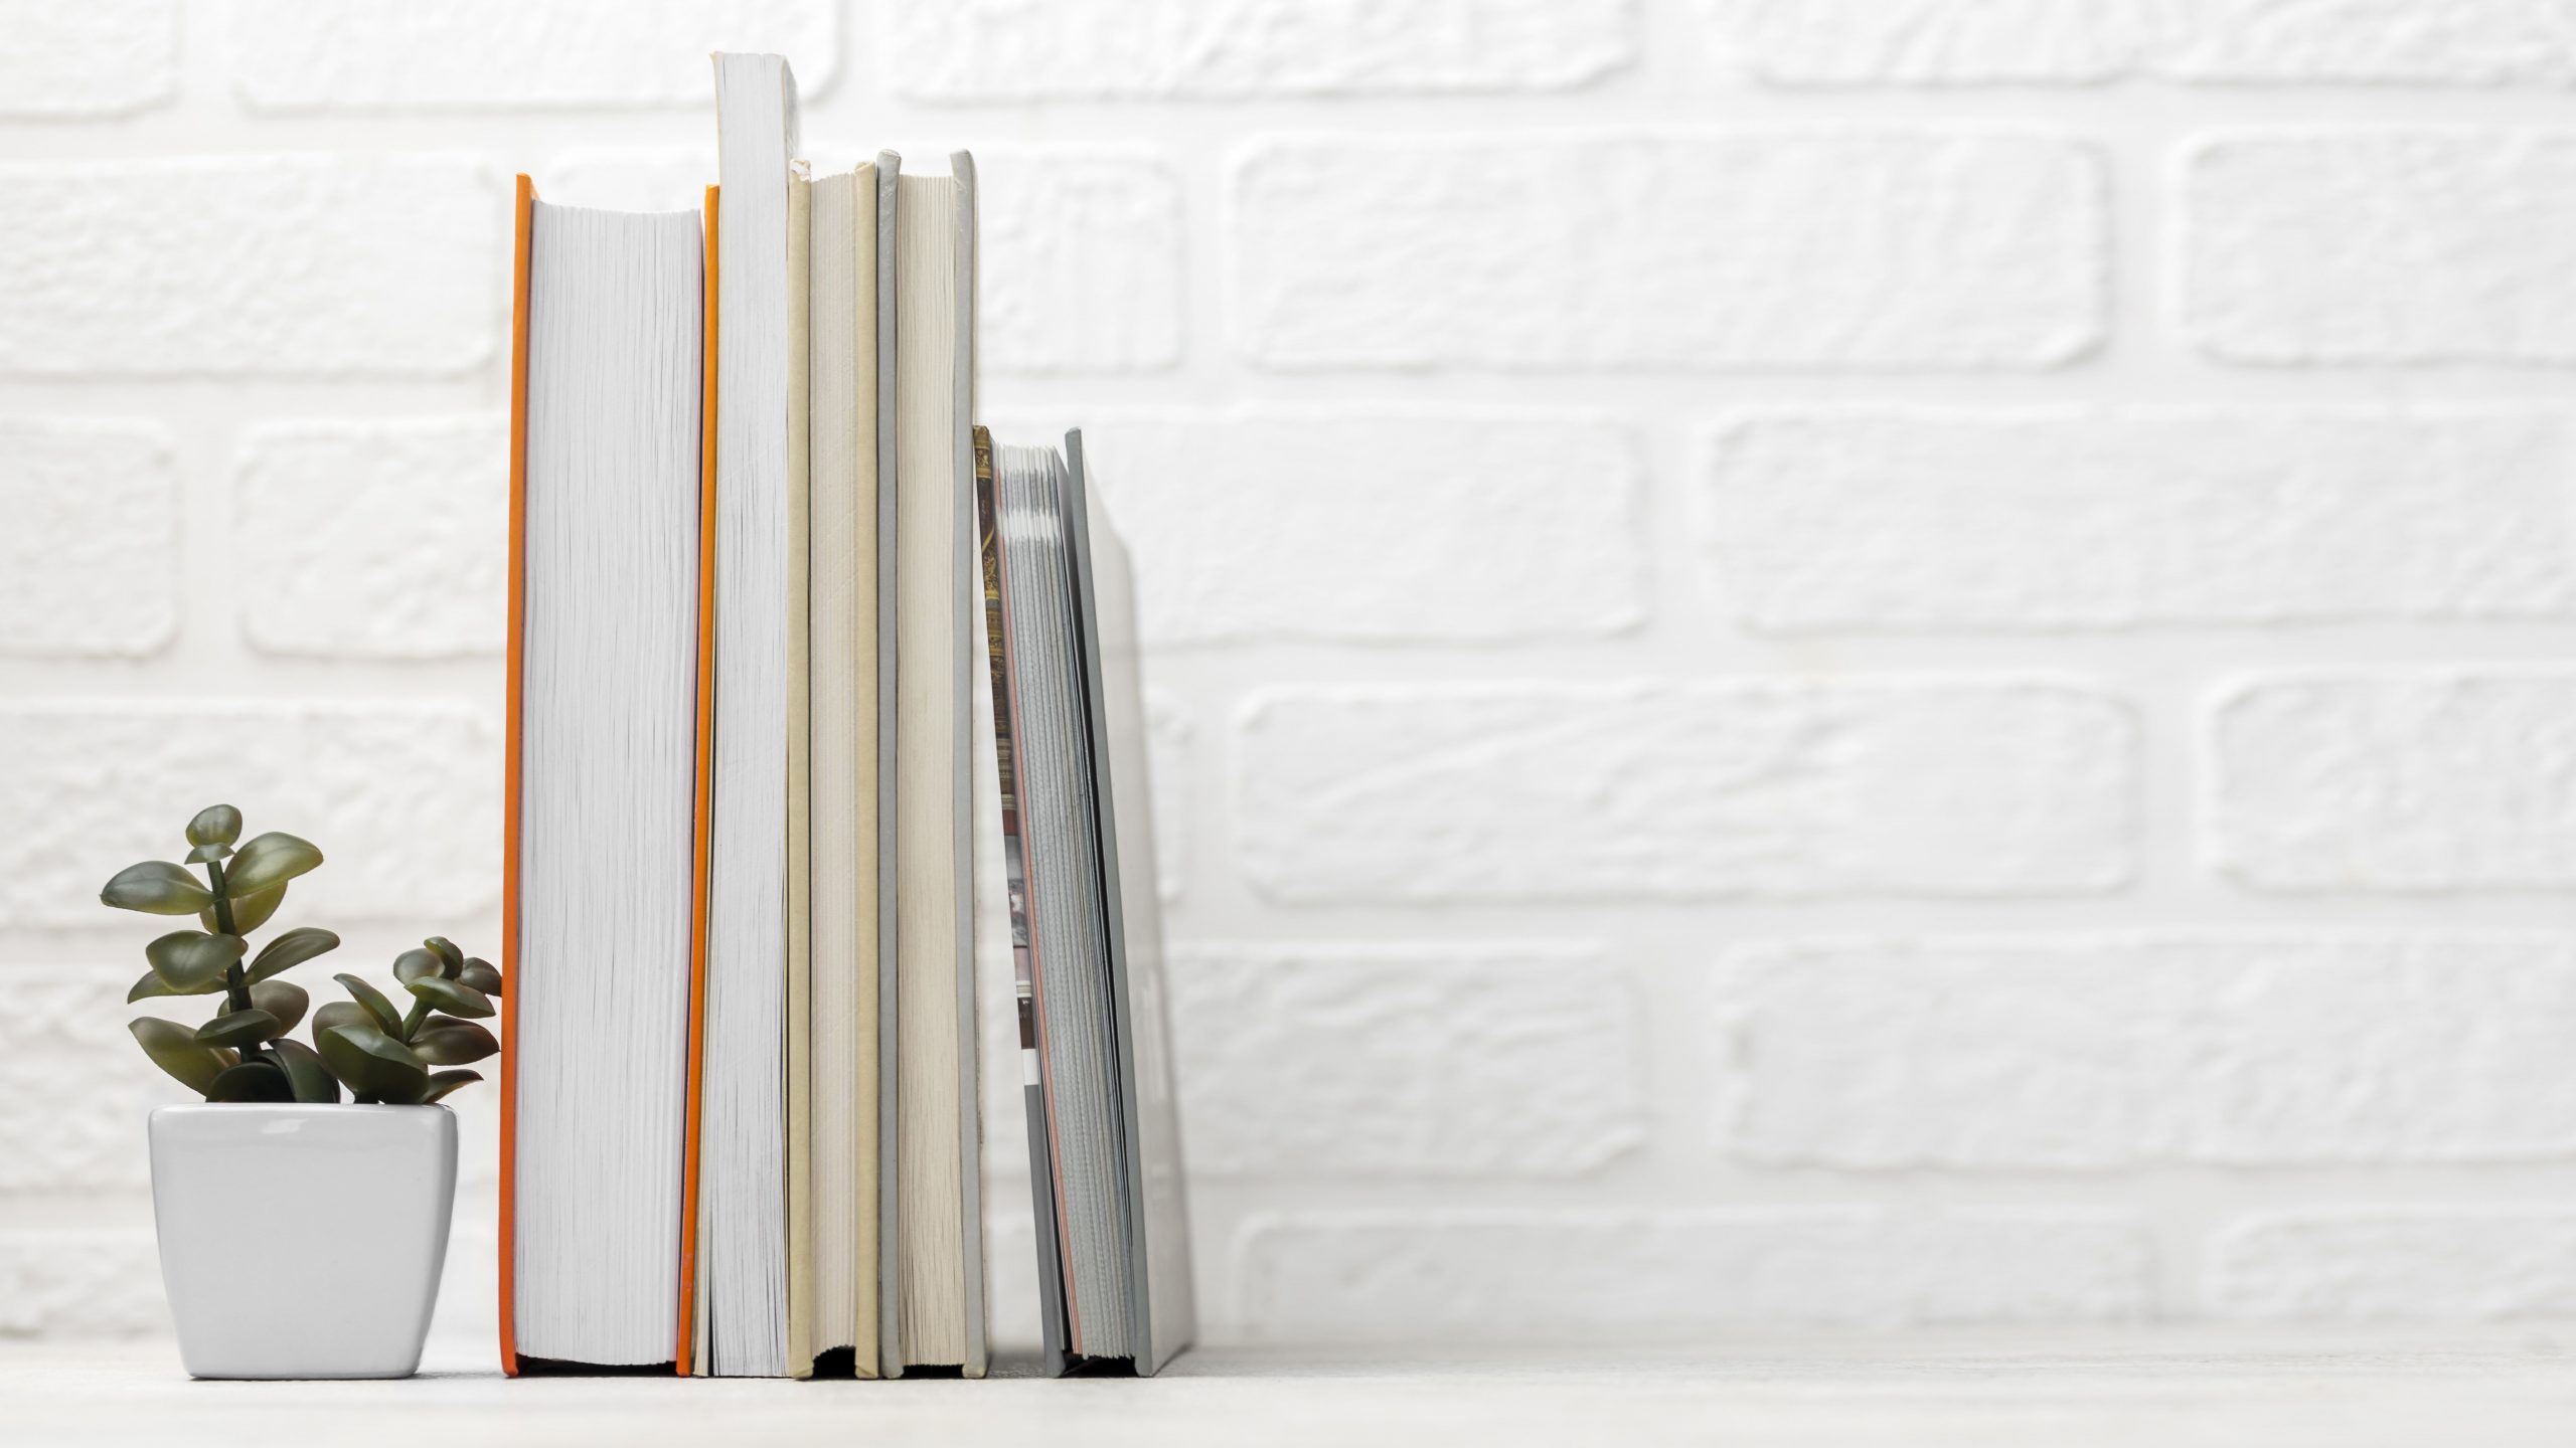
[(162, 1105), (152, 1216), (198, 1378), (404, 1378), (456, 1206), (443, 1105)]

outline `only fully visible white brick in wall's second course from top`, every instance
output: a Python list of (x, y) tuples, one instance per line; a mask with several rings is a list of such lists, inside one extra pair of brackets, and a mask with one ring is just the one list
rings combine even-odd
[(1267, 368), (2048, 368), (2105, 330), (2069, 139), (1265, 139), (1226, 201)]

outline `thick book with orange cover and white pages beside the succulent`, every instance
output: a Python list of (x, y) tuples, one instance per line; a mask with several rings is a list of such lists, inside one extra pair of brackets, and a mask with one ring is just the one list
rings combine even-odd
[(714, 237), (520, 175), (500, 1355), (688, 1371), (714, 626)]

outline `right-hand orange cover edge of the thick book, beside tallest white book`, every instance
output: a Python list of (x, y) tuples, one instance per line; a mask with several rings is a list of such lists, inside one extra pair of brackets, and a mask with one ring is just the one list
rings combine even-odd
[(706, 374), (698, 384), (698, 799), (690, 850), (688, 1141), (680, 1152), (680, 1376), (698, 1309), (698, 1105), (706, 1092), (706, 868), (716, 794), (716, 188), (706, 188)]

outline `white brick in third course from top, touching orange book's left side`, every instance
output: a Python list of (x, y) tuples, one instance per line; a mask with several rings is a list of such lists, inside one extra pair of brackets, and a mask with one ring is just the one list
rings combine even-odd
[(273, 423), (234, 472), (242, 634), (268, 654), (422, 660), (507, 634), (510, 420)]

